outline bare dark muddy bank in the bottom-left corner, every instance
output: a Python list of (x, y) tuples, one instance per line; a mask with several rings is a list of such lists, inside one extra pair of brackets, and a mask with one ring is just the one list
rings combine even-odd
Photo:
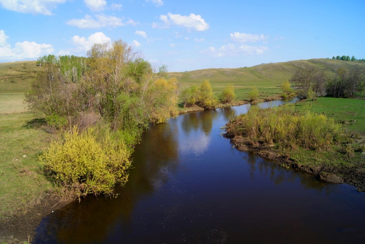
[(18, 213), (12, 216), (5, 216), (0, 220), (0, 243), (30, 242), (42, 218), (70, 202), (45, 193), (33, 204), (25, 206), (26, 210), (19, 209)]

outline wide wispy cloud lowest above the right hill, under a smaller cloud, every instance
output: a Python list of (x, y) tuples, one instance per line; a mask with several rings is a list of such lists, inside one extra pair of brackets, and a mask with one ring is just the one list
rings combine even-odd
[(228, 43), (226, 45), (220, 46), (219, 49), (214, 47), (208, 47), (207, 49), (201, 51), (201, 53), (209, 54), (213, 57), (227, 57), (227, 56), (237, 56), (237, 55), (252, 55), (252, 54), (263, 54), (267, 51), (266, 46), (249, 46), (242, 44), (236, 46), (235, 44)]

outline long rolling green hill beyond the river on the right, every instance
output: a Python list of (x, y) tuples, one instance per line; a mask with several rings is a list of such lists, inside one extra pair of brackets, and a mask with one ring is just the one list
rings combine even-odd
[(176, 77), (181, 84), (187, 86), (200, 85), (202, 81), (208, 79), (215, 94), (221, 93), (226, 84), (231, 83), (235, 87), (237, 100), (243, 100), (248, 98), (248, 93), (252, 86), (257, 86), (261, 98), (281, 94), (281, 82), (285, 79), (289, 80), (295, 70), (300, 67), (316, 67), (332, 75), (339, 67), (346, 67), (351, 70), (356, 66), (365, 67), (365, 63), (320, 58), (283, 63), (266, 63), (236, 69), (202, 69), (171, 72), (169, 77)]

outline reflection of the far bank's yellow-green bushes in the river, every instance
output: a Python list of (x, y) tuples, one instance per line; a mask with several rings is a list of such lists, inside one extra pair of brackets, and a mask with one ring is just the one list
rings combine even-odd
[(215, 109), (210, 109), (181, 115), (183, 116), (181, 120), (181, 128), (185, 134), (201, 129), (206, 136), (209, 136), (212, 131), (213, 120), (218, 117), (218, 114), (219, 112)]

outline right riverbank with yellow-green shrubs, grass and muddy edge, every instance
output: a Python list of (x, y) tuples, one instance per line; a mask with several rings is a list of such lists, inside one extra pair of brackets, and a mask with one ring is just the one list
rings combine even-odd
[[(237, 116), (227, 124), (227, 136), (239, 150), (253, 150), (285, 167), (364, 191), (364, 114), (364, 100), (320, 97), (312, 105), (297, 102)], [(254, 121), (254, 116), (261, 116), (261, 121), (246, 122)], [(272, 120), (265, 124), (266, 118)]]

